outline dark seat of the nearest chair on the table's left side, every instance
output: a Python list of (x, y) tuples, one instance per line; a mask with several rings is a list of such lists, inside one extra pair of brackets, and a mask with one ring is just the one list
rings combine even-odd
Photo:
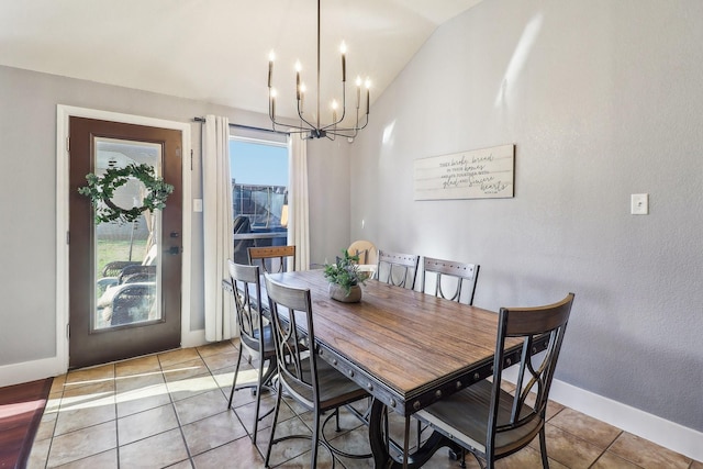
[[(305, 378), (310, 379), (310, 361), (302, 361), (301, 368)], [(317, 360), (317, 382), (320, 383), (321, 412), (358, 401), (368, 395), (368, 392), (324, 360)], [(286, 379), (283, 379), (283, 384), (289, 392), (309, 402), (309, 407), (312, 409), (313, 397), (310, 388)]]

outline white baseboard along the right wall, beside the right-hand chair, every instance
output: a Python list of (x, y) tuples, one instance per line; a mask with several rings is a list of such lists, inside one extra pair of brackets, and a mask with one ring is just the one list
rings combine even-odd
[(549, 399), (696, 461), (703, 461), (703, 433), (657, 415), (554, 380)]

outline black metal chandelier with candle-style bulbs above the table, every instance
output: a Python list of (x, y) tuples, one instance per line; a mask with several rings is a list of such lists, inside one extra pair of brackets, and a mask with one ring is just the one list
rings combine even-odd
[[(362, 83), (361, 77), (356, 79), (356, 118), (353, 126), (344, 124), (343, 121), (347, 113), (347, 100), (346, 100), (346, 87), (347, 87), (347, 66), (346, 66), (346, 45), (342, 42), (339, 47), (342, 53), (342, 109), (341, 114), (337, 112), (339, 105), (336, 100), (332, 101), (332, 121), (327, 124), (321, 124), (320, 119), (320, 0), (317, 0), (317, 108), (316, 114), (312, 118), (305, 115), (305, 85), (300, 80), (301, 65), (300, 60), (295, 63), (295, 100), (298, 109), (298, 125), (289, 125), (276, 121), (276, 89), (272, 87), (274, 81), (274, 60), (276, 58), (274, 52), (269, 55), (268, 62), (268, 115), (271, 119), (274, 130), (276, 126), (286, 127), (289, 133), (300, 134), (301, 138), (322, 138), (326, 137), (335, 139), (337, 136), (346, 137), (349, 141), (358, 134), (358, 132), (366, 127), (369, 122), (369, 88), (371, 86), (370, 80), (367, 78)], [(359, 113), (361, 112), (361, 85), (366, 87), (366, 112), (362, 120), (359, 121)], [(354, 112), (354, 110), (352, 111)], [(314, 121), (314, 122), (313, 122)], [(292, 130), (290, 130), (292, 129)]]

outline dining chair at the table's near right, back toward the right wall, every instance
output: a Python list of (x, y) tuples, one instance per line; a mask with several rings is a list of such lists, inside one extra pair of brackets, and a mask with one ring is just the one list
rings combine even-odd
[[(493, 362), (502, 366), (493, 367), (492, 380), (465, 388), (414, 416), (437, 432), (447, 446), (462, 456), (464, 451), (471, 453), (481, 467), (489, 469), (493, 469), (496, 459), (517, 453), (539, 435), (542, 465), (548, 468), (547, 403), (572, 303), (573, 293), (569, 293), (545, 306), (501, 308)], [(545, 334), (549, 342), (539, 350), (535, 340)], [(509, 337), (523, 340), (516, 357), (504, 354)], [(501, 388), (503, 367), (512, 365), (518, 365), (514, 394)]]

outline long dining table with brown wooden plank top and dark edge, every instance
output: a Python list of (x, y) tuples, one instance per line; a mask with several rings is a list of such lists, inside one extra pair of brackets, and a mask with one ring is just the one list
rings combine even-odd
[[(269, 276), (310, 289), (319, 357), (372, 395), (368, 424), (375, 467), (419, 468), (438, 448), (451, 445), (433, 433), (411, 454), (411, 416), (492, 376), (495, 312), (377, 280), (365, 282), (361, 301), (346, 303), (330, 298), (322, 270)], [(547, 338), (537, 340), (532, 353), (543, 350), (546, 343)], [(502, 367), (518, 360), (521, 345), (520, 339), (506, 340)], [(405, 423), (403, 445), (394, 453), (384, 421), (389, 411)]]

